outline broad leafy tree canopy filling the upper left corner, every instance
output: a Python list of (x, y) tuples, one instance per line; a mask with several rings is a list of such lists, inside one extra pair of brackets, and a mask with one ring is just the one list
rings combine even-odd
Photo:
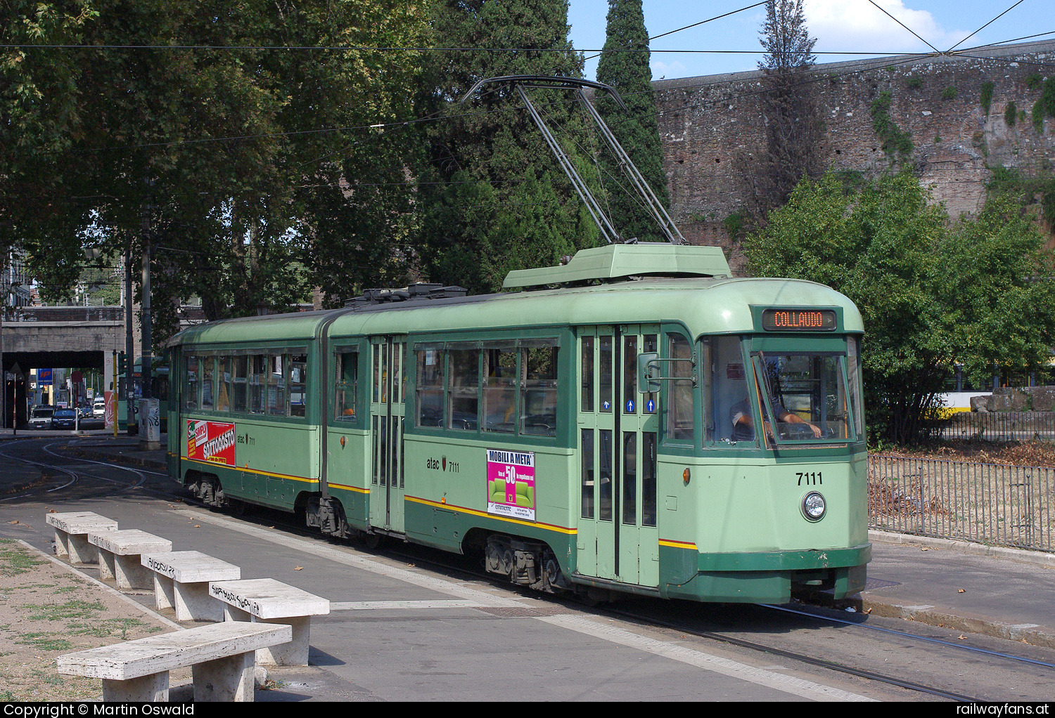
[[(5, 42), (41, 46), (0, 61), (0, 176), (14, 188), (0, 195), (0, 232), (30, 251), (55, 295), (69, 292), (83, 245), (138, 257), (149, 236), (164, 248), (152, 272), (155, 319), (170, 330), (173, 303), (192, 294), (218, 318), (306, 298), (321, 276), (335, 291), (372, 275), (373, 265), (334, 268), (341, 252), (316, 230), (334, 216), (362, 219), (369, 192), (360, 178), (405, 166), (391, 159), (403, 147), (376, 141), (368, 127), (411, 115), (417, 53), (363, 47), (422, 46), (423, 7), (427, 0), (5, 3)], [(55, 44), (72, 46), (42, 46)], [(390, 173), (379, 179), (373, 187), (391, 186)], [(395, 211), (373, 207), (371, 220)], [(390, 238), (390, 224), (378, 220), (341, 241), (358, 251)]]

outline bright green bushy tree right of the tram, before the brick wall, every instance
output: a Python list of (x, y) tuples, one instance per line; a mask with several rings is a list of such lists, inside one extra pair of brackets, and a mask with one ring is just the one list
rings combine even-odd
[(910, 174), (860, 191), (829, 174), (803, 180), (745, 250), (754, 274), (820, 282), (857, 304), (874, 440), (918, 441), (957, 362), (982, 383), (995, 366), (1050, 358), (1052, 257), (1012, 201), (953, 222)]

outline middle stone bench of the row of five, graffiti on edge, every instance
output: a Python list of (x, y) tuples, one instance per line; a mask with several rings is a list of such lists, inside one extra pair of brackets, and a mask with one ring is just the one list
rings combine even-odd
[(242, 569), (202, 551), (145, 554), (154, 571), (154, 605), (174, 608), (177, 621), (223, 621), (224, 604), (209, 596), (210, 581), (237, 581)]

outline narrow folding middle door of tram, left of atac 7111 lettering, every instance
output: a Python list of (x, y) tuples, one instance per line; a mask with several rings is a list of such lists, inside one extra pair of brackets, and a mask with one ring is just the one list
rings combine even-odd
[(406, 337), (370, 339), (370, 525), (403, 531)]

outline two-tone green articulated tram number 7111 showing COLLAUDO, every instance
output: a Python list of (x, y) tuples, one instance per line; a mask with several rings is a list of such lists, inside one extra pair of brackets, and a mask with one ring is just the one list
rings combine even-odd
[(371, 290), (169, 346), (169, 472), (592, 600), (861, 590), (861, 316), (717, 248), (629, 244), (499, 294)]

